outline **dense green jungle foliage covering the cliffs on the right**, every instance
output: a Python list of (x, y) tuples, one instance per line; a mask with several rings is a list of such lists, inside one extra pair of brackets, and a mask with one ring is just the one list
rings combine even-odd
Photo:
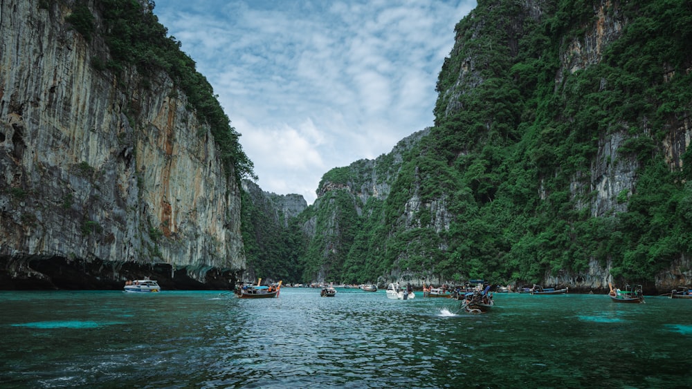
[[(619, 281), (650, 283), (692, 254), (692, 158), (679, 169), (663, 146), (692, 111), (689, 2), (604, 3), (624, 27), (599, 63), (576, 71), (569, 45), (592, 39), (601, 2), (541, 1), (538, 17), (527, 3), (479, 1), (459, 21), (430, 135), (397, 164), (388, 197), (354, 214), (344, 188), (307, 210), (319, 226), (303, 281), (540, 283), (598, 261)], [(611, 138), (622, 139), (617, 152), (599, 155)], [(594, 203), (597, 164), (633, 172), (607, 209)], [(352, 189), (367, 179), (325, 174)]]

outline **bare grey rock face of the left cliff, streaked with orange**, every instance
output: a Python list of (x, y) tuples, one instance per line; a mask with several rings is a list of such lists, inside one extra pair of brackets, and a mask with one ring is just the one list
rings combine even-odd
[(51, 285), (35, 264), (59, 260), (117, 285), (182, 272), (202, 286), (244, 267), (239, 188), (208, 127), (167, 75), (94, 70), (105, 45), (66, 23), (73, 5), (0, 3), (4, 275)]

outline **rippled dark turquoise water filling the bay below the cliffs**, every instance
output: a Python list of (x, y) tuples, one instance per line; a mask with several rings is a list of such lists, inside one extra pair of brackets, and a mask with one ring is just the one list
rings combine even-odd
[(446, 298), (282, 288), (0, 292), (1, 388), (671, 388), (692, 383), (692, 300)]

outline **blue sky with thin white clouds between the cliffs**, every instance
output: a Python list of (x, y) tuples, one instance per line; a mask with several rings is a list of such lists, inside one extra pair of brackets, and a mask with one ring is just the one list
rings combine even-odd
[(433, 124), (437, 75), (475, 0), (156, 0), (241, 134), (262, 190), (322, 175)]

